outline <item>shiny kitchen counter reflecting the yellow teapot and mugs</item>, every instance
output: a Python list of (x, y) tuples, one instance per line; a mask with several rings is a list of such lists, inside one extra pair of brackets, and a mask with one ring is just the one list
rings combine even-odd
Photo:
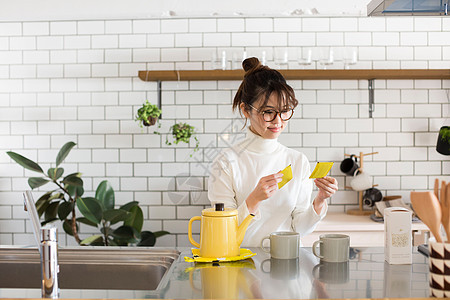
[[(261, 249), (257, 255), (231, 263), (194, 264), (184, 261), (189, 248), (169, 270), (160, 293), (122, 290), (61, 290), (61, 298), (410, 298), (428, 297), (427, 259), (416, 249), (412, 265), (389, 265), (384, 249), (351, 248), (348, 263), (320, 264), (310, 248), (294, 260), (274, 260)], [(1, 298), (40, 298), (39, 289), (0, 289)]]

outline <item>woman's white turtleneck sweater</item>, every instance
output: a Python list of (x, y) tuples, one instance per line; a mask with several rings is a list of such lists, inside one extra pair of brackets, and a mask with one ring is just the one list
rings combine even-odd
[(213, 161), (208, 180), (208, 198), (212, 205), (238, 210), (239, 224), (250, 214), (245, 200), (259, 180), (292, 166), (293, 179), (270, 198), (262, 201), (245, 233), (241, 246), (258, 247), (263, 238), (275, 231), (296, 231), (300, 236), (311, 233), (325, 216), (313, 208), (313, 181), (309, 161), (298, 151), (281, 145), (276, 139), (264, 139), (249, 129), (245, 140), (225, 149)]

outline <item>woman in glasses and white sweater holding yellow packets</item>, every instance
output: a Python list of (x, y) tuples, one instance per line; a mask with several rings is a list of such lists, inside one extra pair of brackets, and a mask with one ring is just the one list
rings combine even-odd
[[(274, 231), (311, 233), (326, 214), (326, 199), (338, 187), (332, 177), (314, 180), (319, 192), (311, 201), (308, 159), (277, 141), (298, 104), (294, 90), (278, 71), (262, 66), (255, 57), (244, 60), (242, 66), (246, 73), (233, 110), (239, 109), (250, 126), (244, 141), (214, 160), (208, 198), (213, 205), (223, 202), (237, 209), (239, 223), (254, 214), (242, 246), (257, 247)], [(278, 189), (283, 176), (279, 171), (288, 165), (293, 179)]]

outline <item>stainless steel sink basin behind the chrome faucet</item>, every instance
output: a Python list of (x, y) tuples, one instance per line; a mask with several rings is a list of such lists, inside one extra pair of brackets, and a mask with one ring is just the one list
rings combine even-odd
[[(61, 289), (160, 290), (179, 252), (162, 248), (79, 247), (58, 250)], [(0, 248), (0, 288), (41, 288), (39, 252)]]

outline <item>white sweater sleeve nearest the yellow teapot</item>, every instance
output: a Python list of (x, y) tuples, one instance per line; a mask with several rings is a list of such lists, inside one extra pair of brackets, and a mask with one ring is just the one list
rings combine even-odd
[[(223, 154), (220, 154), (211, 164), (211, 172), (208, 178), (208, 199), (214, 206), (217, 202), (222, 202), (225, 207), (237, 209), (238, 222), (241, 222), (250, 214), (247, 203), (243, 201), (238, 203), (234, 189), (234, 174), (230, 160)], [(259, 211), (255, 215), (260, 218)]]

